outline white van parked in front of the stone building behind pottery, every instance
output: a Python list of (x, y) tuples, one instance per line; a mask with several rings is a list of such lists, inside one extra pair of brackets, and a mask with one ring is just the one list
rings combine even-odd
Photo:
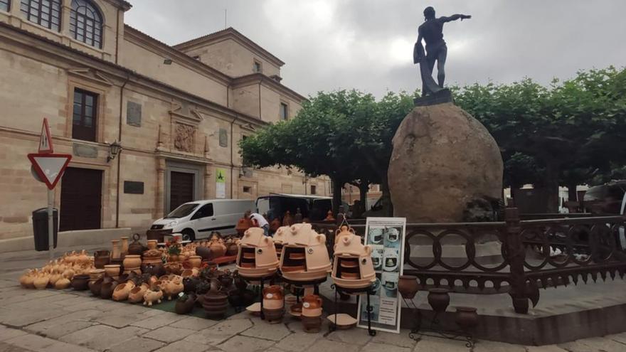
[(246, 199), (209, 199), (184, 203), (166, 217), (152, 223), (151, 232), (182, 233), (184, 240), (208, 238), (213, 231), (235, 233), (237, 221), (255, 201)]

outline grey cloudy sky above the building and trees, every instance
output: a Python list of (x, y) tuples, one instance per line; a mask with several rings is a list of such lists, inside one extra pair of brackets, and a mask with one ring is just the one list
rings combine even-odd
[(413, 91), (413, 43), (425, 6), (446, 23), (447, 82), (547, 84), (577, 70), (626, 65), (626, 0), (129, 0), (126, 23), (174, 45), (236, 28), (285, 61), (303, 95), (355, 87)]

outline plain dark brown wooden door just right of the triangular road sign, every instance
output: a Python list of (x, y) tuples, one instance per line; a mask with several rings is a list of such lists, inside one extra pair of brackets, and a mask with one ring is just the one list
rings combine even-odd
[(102, 171), (70, 167), (61, 178), (60, 231), (100, 228)]

